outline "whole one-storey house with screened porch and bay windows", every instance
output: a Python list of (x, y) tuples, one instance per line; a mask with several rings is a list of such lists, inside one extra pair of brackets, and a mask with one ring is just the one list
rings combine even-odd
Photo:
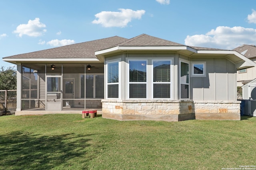
[[(3, 60), (17, 64), (16, 115), (98, 108), (102, 117), (116, 120), (240, 120), (236, 72), (256, 66), (237, 51), (190, 47), (146, 34)], [(36, 74), (31, 84), (36, 81), (37, 96), (23, 96), (23, 68)]]

